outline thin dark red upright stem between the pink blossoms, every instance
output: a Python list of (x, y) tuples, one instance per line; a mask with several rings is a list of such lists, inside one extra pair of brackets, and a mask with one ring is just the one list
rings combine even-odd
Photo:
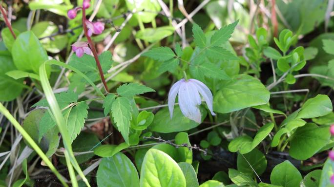
[(109, 93), (109, 89), (108, 89), (108, 86), (106, 85), (106, 82), (105, 82), (105, 79), (104, 79), (104, 75), (103, 75), (103, 71), (102, 71), (102, 67), (101, 67), (101, 63), (100, 63), (100, 60), (99, 60), (99, 57), (97, 55), (97, 52), (96, 52), (96, 49), (95, 49), (95, 46), (94, 46), (94, 43), (92, 41), (92, 39), (88, 36), (88, 31), (87, 31), (87, 25), (85, 23), (85, 20), (86, 20), (86, 12), (85, 12), (85, 9), (83, 8), (83, 26), (84, 26), (84, 35), (86, 36), (87, 38), (87, 41), (88, 41), (88, 44), (89, 44), (89, 47), (90, 49), (92, 50), (93, 52), (93, 56), (95, 58), (95, 61), (96, 61), (96, 65), (99, 69), (99, 72), (100, 72), (100, 76), (101, 76), (101, 80), (102, 80), (102, 83), (104, 85), (104, 89), (107, 93)]

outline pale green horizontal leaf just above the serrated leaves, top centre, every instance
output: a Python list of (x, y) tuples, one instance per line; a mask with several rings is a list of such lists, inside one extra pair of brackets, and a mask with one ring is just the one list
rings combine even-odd
[(172, 35), (174, 31), (175, 29), (172, 26), (145, 28), (145, 30), (141, 30), (137, 32), (136, 38), (153, 43), (153, 42), (162, 40), (163, 38)]

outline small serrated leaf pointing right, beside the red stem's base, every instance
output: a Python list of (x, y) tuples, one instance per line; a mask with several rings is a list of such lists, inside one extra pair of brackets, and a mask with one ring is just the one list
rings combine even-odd
[(116, 91), (118, 94), (125, 97), (132, 97), (146, 92), (155, 92), (153, 89), (138, 83), (122, 84)]

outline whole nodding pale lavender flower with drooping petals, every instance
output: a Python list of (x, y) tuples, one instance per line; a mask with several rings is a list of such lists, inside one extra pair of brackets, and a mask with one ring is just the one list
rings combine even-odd
[(184, 78), (177, 81), (168, 93), (168, 109), (170, 113), (170, 118), (173, 117), (174, 103), (176, 95), (179, 94), (179, 105), (181, 112), (187, 118), (194, 120), (197, 123), (201, 123), (201, 112), (198, 106), (201, 104), (201, 96), (207, 103), (209, 111), (212, 115), (212, 93), (209, 88), (199, 80), (190, 78), (185, 80)]

